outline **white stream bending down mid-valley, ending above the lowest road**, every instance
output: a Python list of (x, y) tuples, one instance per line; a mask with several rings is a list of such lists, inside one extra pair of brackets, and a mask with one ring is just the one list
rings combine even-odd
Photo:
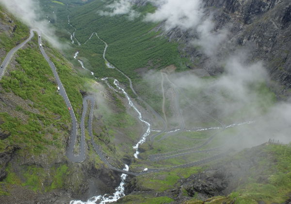
[(145, 123), (146, 126), (147, 126), (146, 132), (144, 133), (144, 135), (142, 136), (142, 138), (138, 141), (138, 143), (137, 143), (136, 145), (134, 145), (134, 146), (132, 147), (133, 149), (135, 149), (135, 153), (134, 153), (133, 155), (134, 155), (134, 157), (137, 159), (137, 158), (138, 158), (137, 156), (138, 156), (138, 154), (139, 154), (138, 147), (146, 141), (146, 137), (150, 134), (150, 124), (149, 124), (147, 121), (143, 120), (143, 118), (142, 118), (142, 113), (141, 113), (141, 112), (137, 109), (137, 107), (132, 103), (132, 101), (131, 101), (130, 98), (129, 98), (128, 93), (127, 93), (123, 88), (121, 88), (121, 87), (119, 86), (119, 82), (117, 81), (117, 79), (114, 79), (113, 84), (116, 85), (116, 87), (117, 87), (119, 90), (121, 90), (121, 91), (123, 92), (123, 94), (126, 96), (127, 100), (129, 101), (129, 105), (130, 105), (131, 107), (133, 107), (134, 110), (137, 112), (137, 114), (138, 114), (138, 119), (139, 119), (140, 121), (142, 121), (143, 123)]

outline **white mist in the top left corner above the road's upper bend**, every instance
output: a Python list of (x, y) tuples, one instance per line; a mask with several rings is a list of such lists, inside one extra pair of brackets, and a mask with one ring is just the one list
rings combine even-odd
[(54, 28), (50, 26), (48, 20), (40, 20), (44, 14), (37, 0), (0, 0), (0, 4), (30, 28), (41, 31), (54, 47), (58, 49), (64, 47), (64, 44), (55, 37)]

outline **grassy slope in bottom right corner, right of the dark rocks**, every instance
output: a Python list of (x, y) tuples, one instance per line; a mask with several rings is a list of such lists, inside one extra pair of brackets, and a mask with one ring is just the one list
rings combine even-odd
[[(234, 160), (245, 159), (248, 150), (234, 156)], [(284, 203), (291, 193), (291, 146), (269, 145), (261, 147), (253, 156), (257, 165), (252, 167), (246, 180), (241, 182), (228, 196), (213, 197), (206, 204), (265, 204)], [(263, 178), (263, 179), (262, 179)], [(202, 201), (193, 199), (186, 204), (199, 204)]]

